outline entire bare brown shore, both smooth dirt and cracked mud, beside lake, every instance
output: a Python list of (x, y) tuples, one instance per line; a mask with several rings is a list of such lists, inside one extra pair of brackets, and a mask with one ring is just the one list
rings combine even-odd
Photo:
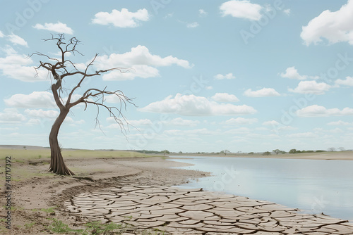
[[(166, 229), (166, 231), (169, 231), (172, 234), (212, 234), (212, 231), (215, 231), (215, 229), (217, 231), (217, 229), (220, 229), (220, 226), (221, 228), (225, 230), (228, 229), (229, 232), (236, 234), (235, 231), (249, 232), (255, 229), (256, 227), (251, 224), (256, 221), (258, 222), (261, 217), (265, 218), (268, 222), (268, 224), (260, 223), (261, 225), (256, 225), (258, 231), (263, 233), (267, 231), (266, 229), (274, 229), (271, 230), (273, 231), (271, 234), (282, 234), (281, 231), (286, 231), (288, 228), (292, 229), (289, 229), (288, 231), (294, 231), (295, 229), (300, 230), (300, 228), (305, 229), (306, 227), (300, 224), (305, 224), (305, 221), (313, 223), (315, 220), (317, 224), (321, 222), (316, 229), (323, 230), (323, 227), (328, 226), (326, 229), (327, 231), (330, 231), (330, 229), (331, 231), (336, 231), (337, 229), (337, 231), (349, 229), (353, 234), (353, 224), (349, 224), (345, 220), (338, 220), (325, 215), (315, 217), (312, 215), (303, 215), (301, 213), (297, 214), (294, 210), (289, 208), (283, 209), (282, 206), (275, 203), (261, 202), (239, 196), (229, 196), (224, 193), (202, 191), (201, 189), (177, 189), (173, 186), (187, 183), (189, 179), (207, 177), (210, 174), (208, 172), (171, 168), (187, 166), (188, 164), (174, 162), (172, 161), (172, 158), (169, 159), (170, 160), (164, 160), (163, 156), (149, 158), (88, 158), (85, 160), (83, 160), (83, 158), (66, 159), (68, 167), (74, 169), (74, 172), (78, 173), (75, 177), (61, 177), (45, 173), (45, 170), (47, 170), (48, 167), (48, 159), (28, 160), (23, 163), (14, 162), (13, 173), (20, 174), (19, 172), (25, 170), (25, 174), (21, 175), (20, 179), (13, 181), (13, 227), (11, 231), (6, 232), (6, 230), (2, 228), (0, 231), (5, 234), (53, 234), (52, 231), (47, 229), (47, 227), (52, 224), (52, 219), (54, 218), (68, 224), (68, 227), (71, 227), (72, 229), (82, 229), (84, 228), (84, 224), (90, 220), (80, 213), (75, 213), (74, 209), (77, 205), (71, 203), (70, 207), (68, 201), (72, 200), (73, 197), (82, 194), (84, 195), (85, 193), (105, 191), (106, 193), (104, 195), (107, 195), (107, 191), (110, 190), (110, 193), (112, 193), (113, 190), (113, 194), (119, 197), (126, 196), (126, 193), (132, 193), (130, 196), (135, 197), (133, 203), (131, 204), (130, 202), (131, 205), (128, 205), (127, 203), (131, 198), (126, 198), (124, 205), (126, 203), (126, 206), (129, 206), (130, 208), (124, 209), (131, 211), (126, 212), (126, 214), (123, 212), (123, 214), (130, 215), (129, 213), (132, 213), (131, 215), (134, 216), (133, 220), (125, 222), (126, 224), (130, 224), (129, 226), (131, 227), (135, 225), (135, 227), (133, 227), (135, 229), (136, 227), (140, 227), (142, 230), (137, 230), (140, 231), (140, 233), (145, 231), (143, 229), (150, 229), (148, 226), (145, 226), (147, 221), (148, 223), (154, 222), (156, 225), (155, 228)], [(1, 162), (0, 165), (2, 164), (3, 163)], [(131, 186), (134, 188), (129, 189), (128, 187), (121, 187), (121, 183), (124, 183), (124, 186)], [(121, 193), (121, 190), (125, 192), (118, 195), (119, 193), (116, 191), (117, 189), (120, 189), (119, 193)], [(152, 189), (152, 191), (148, 191), (148, 189)], [(153, 192), (160, 194), (155, 195)], [(3, 193), (4, 192), (1, 191), (2, 205), (4, 205)], [(162, 200), (166, 195), (169, 195), (169, 198), (173, 198), (174, 196), (175, 200), (164, 202), (158, 201)], [(95, 196), (93, 198), (95, 198)], [(151, 203), (149, 201), (145, 201), (146, 197), (149, 198), (152, 196), (156, 196), (155, 198), (157, 198), (157, 201), (152, 202), (152, 204), (149, 204)], [(87, 196), (85, 197), (87, 198)], [(175, 197), (179, 198), (176, 199)], [(92, 196), (88, 196), (88, 198), (92, 198)], [(200, 198), (202, 199), (201, 201), (199, 201)], [(107, 198), (100, 199), (104, 201)], [(198, 201), (198, 203), (196, 203), (196, 201)], [(136, 214), (136, 206), (143, 208), (141, 205), (134, 204), (137, 202), (142, 203), (141, 205), (145, 205), (146, 208), (149, 209), (147, 211), (140, 210), (138, 214)], [(119, 202), (115, 201), (114, 203)], [(174, 206), (176, 203), (179, 204)], [(210, 203), (213, 204), (209, 205)], [(262, 204), (259, 205), (258, 203)], [(222, 206), (225, 204), (227, 205)], [(236, 204), (237, 207), (235, 206)], [(80, 205), (80, 203), (78, 203), (78, 205)], [(172, 205), (174, 207), (172, 207)], [(53, 208), (54, 206), (56, 206), (56, 208)], [(153, 211), (151, 210), (152, 206), (155, 207)], [(157, 208), (156, 206), (168, 208), (164, 214), (170, 212), (173, 215), (175, 212), (174, 214), (180, 214), (183, 217), (179, 218), (174, 215), (168, 215), (168, 221), (173, 221), (169, 221), (169, 224), (161, 224), (157, 218), (160, 217), (160, 214), (158, 213), (163, 211), (163, 208)], [(263, 208), (261, 208), (261, 206), (263, 206)], [(229, 207), (233, 207), (231, 212), (227, 209)], [(52, 208), (52, 210), (48, 210), (49, 208)], [(115, 208), (114, 210), (116, 210), (116, 213), (121, 212), (119, 208)], [(248, 210), (252, 211), (249, 215), (247, 215)], [(234, 213), (234, 211), (237, 213)], [(102, 219), (102, 215), (100, 216), (99, 213), (103, 213), (104, 216), (107, 214), (100, 210), (97, 210), (96, 212), (98, 213), (96, 219)], [(153, 215), (154, 213), (157, 213), (157, 215), (151, 217), (150, 215), (146, 215), (146, 213), (152, 213)], [(188, 213), (191, 213), (191, 215)], [(202, 218), (198, 217), (200, 213), (204, 214), (205, 217), (208, 217), (208, 220), (202, 220), (203, 222), (201, 222)], [(211, 220), (212, 216), (210, 216), (210, 213), (213, 215), (220, 215), (220, 217), (213, 217), (213, 220)], [(255, 214), (256, 217), (250, 216)], [(115, 214), (114, 216), (116, 218), (111, 218), (111, 221), (118, 222), (120, 215)], [(1, 212), (1, 217), (4, 217), (3, 212)], [(291, 220), (295, 219), (300, 223), (294, 224), (294, 226), (293, 224), (291, 225), (290, 222), (286, 222), (283, 218), (291, 218)], [(90, 219), (92, 220), (92, 217)], [(162, 218), (160, 219), (162, 220)], [(199, 220), (199, 222), (196, 222), (196, 220)], [(231, 220), (234, 221), (231, 222)], [(249, 222), (246, 222), (248, 220)], [(276, 226), (273, 225), (273, 222), (277, 220), (282, 221), (281, 226), (278, 224)], [(124, 222), (124, 220), (120, 221)], [(323, 224), (323, 222), (328, 224)], [(31, 223), (34, 223), (32, 227), (26, 229), (28, 224)], [(238, 225), (240, 224), (240, 227), (234, 225), (234, 223)], [(164, 226), (162, 226), (163, 224)], [(270, 224), (272, 225), (270, 226)], [(232, 229), (229, 226), (232, 228), (234, 227), (235, 229)], [(269, 231), (270, 230), (268, 230), (268, 232)]]

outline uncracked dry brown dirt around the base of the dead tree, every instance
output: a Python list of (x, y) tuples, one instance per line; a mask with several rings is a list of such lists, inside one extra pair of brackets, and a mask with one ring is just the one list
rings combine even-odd
[(169, 168), (183, 164), (162, 158), (66, 159), (68, 167), (80, 169), (81, 173), (73, 177), (47, 173), (49, 159), (12, 162), (10, 230), (5, 228), (5, 161), (1, 160), (0, 177), (4, 184), (1, 182), (0, 234), (53, 234), (48, 229), (53, 218), (73, 229), (84, 229), (83, 224), (89, 220), (68, 214), (63, 208), (64, 201), (85, 191), (114, 187), (121, 180), (134, 182), (148, 177), (153, 182), (169, 186), (208, 175), (207, 172)]

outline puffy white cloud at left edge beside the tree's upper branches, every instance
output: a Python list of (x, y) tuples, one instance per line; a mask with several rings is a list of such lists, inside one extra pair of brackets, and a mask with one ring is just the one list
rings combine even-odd
[[(8, 52), (10, 49), (8, 49)], [(37, 82), (47, 80), (48, 72), (40, 69), (35, 70), (30, 64), (33, 61), (25, 55), (10, 53), (0, 58), (0, 70), (3, 75), (23, 82)]]

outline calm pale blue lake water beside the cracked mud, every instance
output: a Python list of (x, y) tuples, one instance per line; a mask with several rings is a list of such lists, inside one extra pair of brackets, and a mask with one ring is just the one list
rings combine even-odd
[[(171, 156), (173, 157), (173, 156)], [(175, 156), (211, 172), (184, 188), (222, 191), (353, 222), (353, 160)]]

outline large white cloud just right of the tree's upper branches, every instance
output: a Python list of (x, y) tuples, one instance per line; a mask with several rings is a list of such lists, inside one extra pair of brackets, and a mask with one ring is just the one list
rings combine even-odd
[(136, 46), (126, 53), (112, 53), (109, 56), (97, 56), (95, 66), (99, 70), (107, 68), (132, 68), (115, 70), (103, 75), (103, 80), (133, 80), (135, 77), (157, 77), (159, 70), (155, 67), (179, 65), (182, 68), (192, 68), (189, 61), (174, 56), (161, 57), (150, 53), (145, 46)]

